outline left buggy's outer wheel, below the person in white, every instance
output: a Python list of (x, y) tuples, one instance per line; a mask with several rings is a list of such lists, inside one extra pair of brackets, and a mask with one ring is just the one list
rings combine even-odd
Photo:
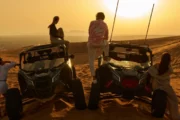
[(6, 111), (10, 120), (19, 120), (21, 112), (23, 111), (22, 98), (18, 88), (11, 88), (7, 90), (6, 97)]

